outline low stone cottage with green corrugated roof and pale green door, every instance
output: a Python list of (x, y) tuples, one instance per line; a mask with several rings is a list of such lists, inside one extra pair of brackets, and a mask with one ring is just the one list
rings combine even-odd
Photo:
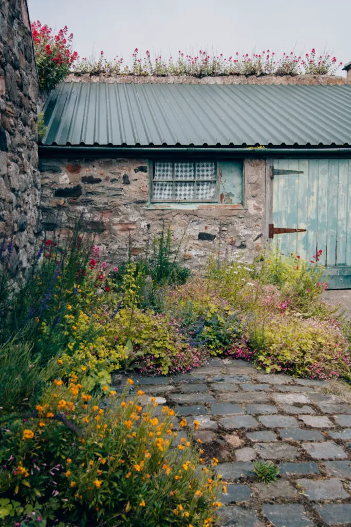
[(191, 267), (220, 246), (247, 260), (269, 240), (322, 249), (330, 287), (351, 286), (346, 79), (70, 75), (44, 112), (47, 229), (84, 218), (111, 262), (163, 225), (186, 232)]

